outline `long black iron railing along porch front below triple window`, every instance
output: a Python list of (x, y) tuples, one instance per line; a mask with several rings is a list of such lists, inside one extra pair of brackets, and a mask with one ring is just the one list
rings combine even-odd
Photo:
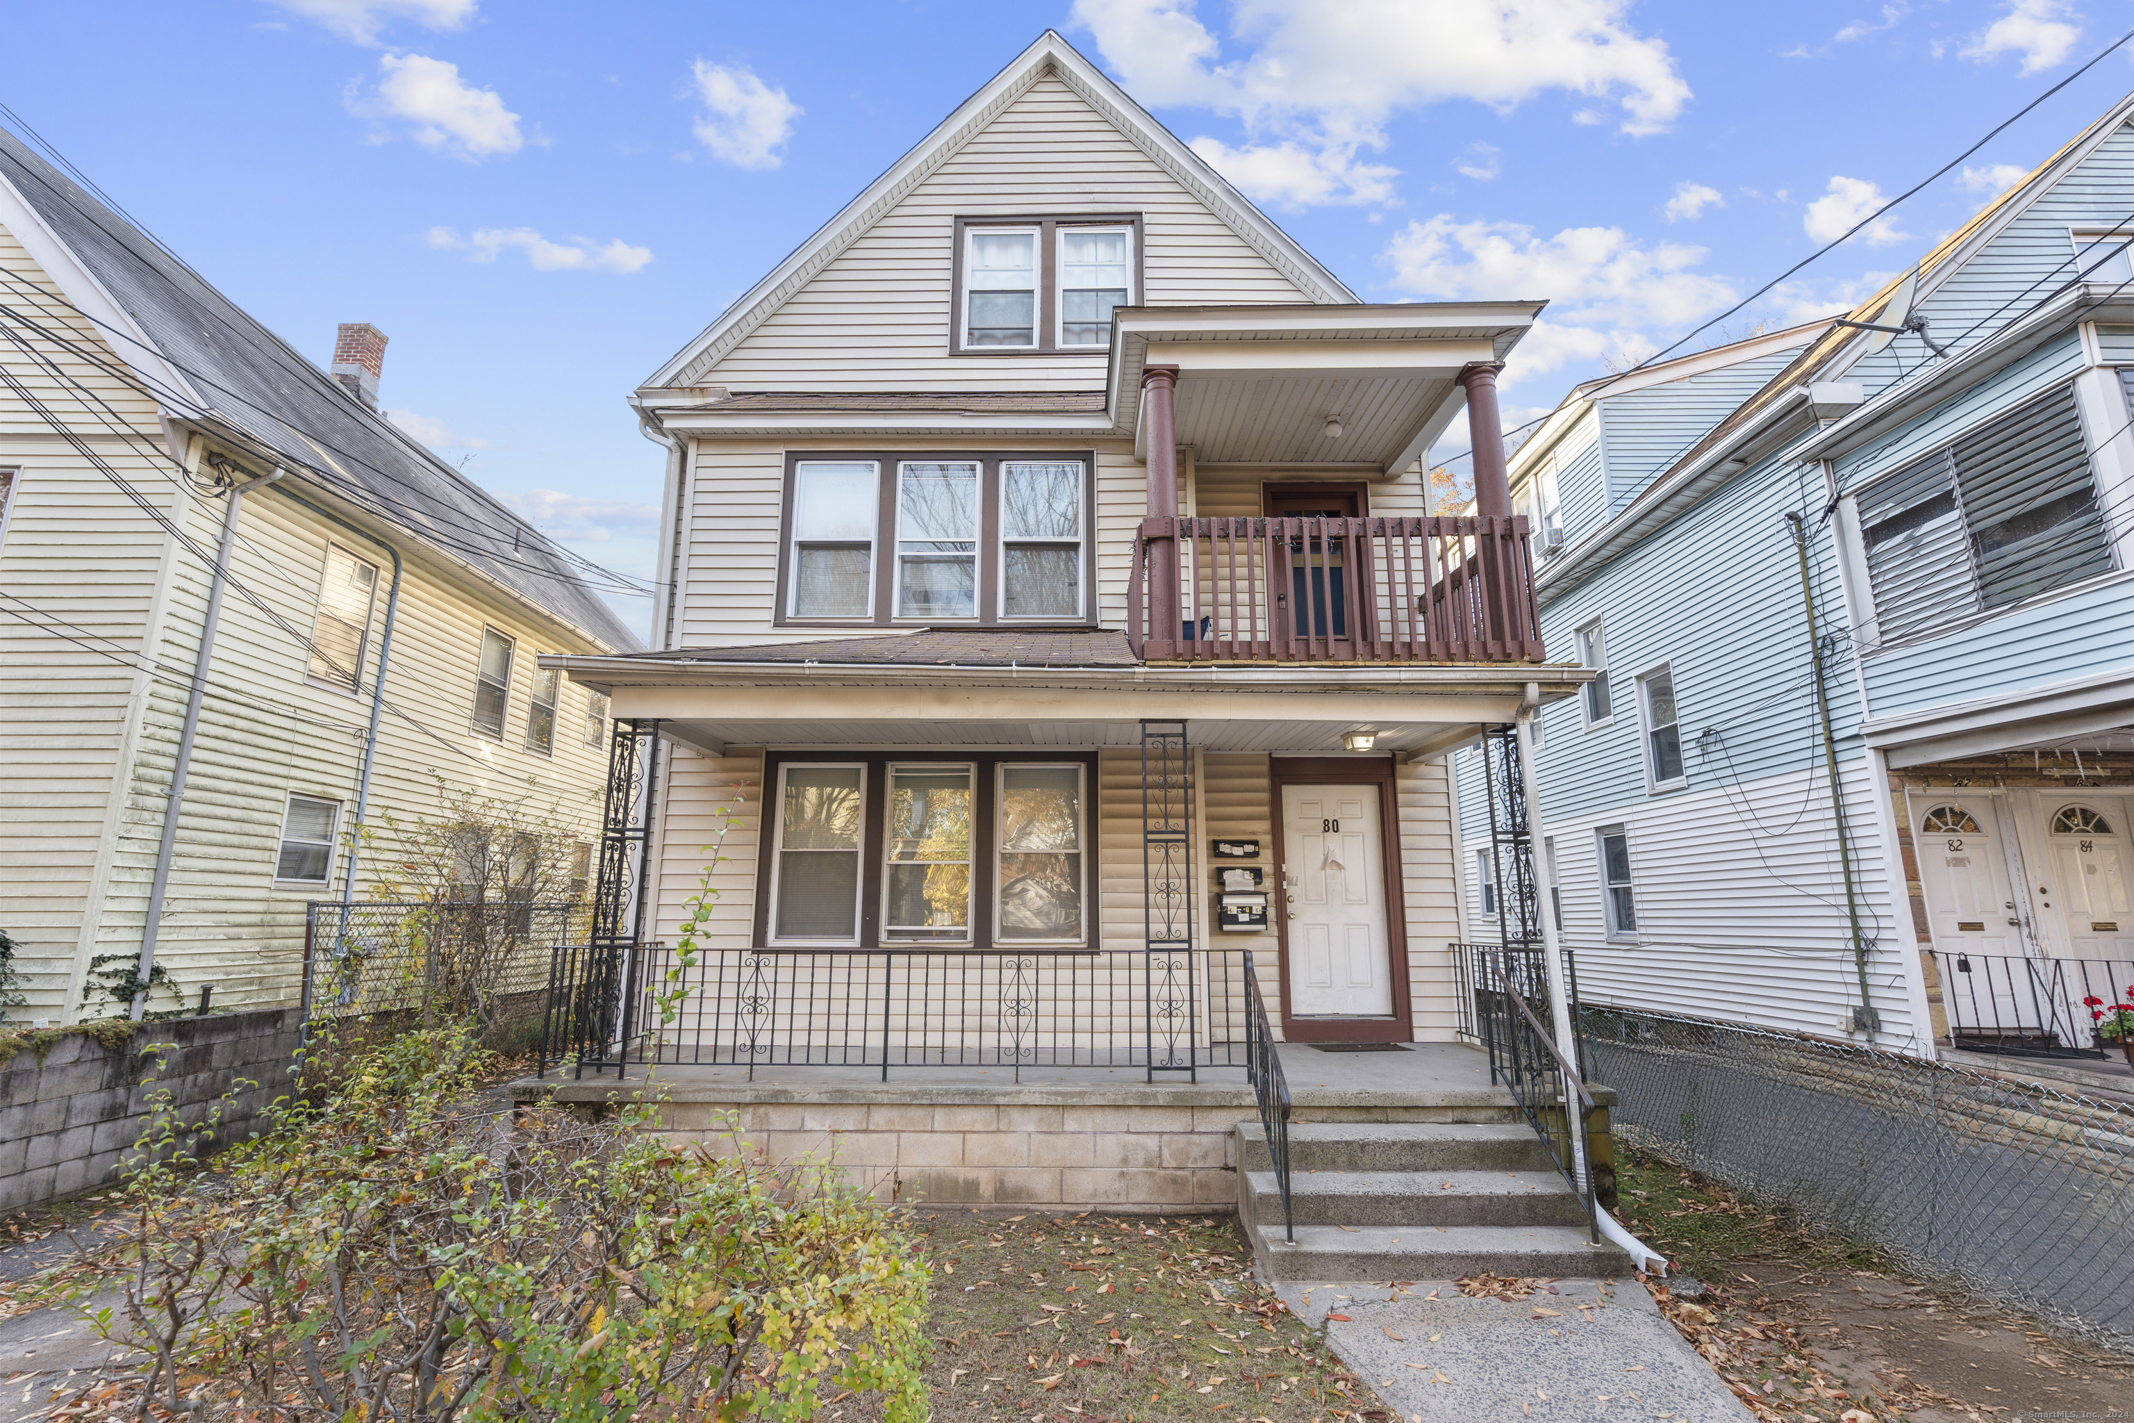
[(1246, 1067), (1244, 949), (555, 949), (542, 1071)]

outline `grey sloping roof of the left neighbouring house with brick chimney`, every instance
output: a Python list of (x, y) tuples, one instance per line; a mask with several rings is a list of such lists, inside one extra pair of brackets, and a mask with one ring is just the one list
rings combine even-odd
[[(0, 198), (13, 198), (58, 252), (47, 275), (87, 316), (173, 418), (265, 446), (324, 493), (423, 540), (538, 606), (587, 640), (640, 640), (585, 582), (585, 570), (487, 491), (354, 399), (198, 273), (0, 128)], [(58, 271), (55, 271), (58, 269)]]

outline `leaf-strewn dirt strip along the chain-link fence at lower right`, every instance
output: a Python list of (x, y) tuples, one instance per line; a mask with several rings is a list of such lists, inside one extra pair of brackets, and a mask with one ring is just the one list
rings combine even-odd
[(1656, 1158), (1626, 1156), (1620, 1214), (1705, 1284), (1654, 1293), (1761, 1419), (2134, 1417), (2134, 1357), (2053, 1338)]

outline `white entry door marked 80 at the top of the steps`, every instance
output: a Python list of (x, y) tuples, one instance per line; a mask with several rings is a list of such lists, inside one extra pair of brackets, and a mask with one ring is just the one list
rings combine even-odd
[(1376, 785), (1283, 787), (1283, 909), (1293, 1018), (1389, 1018), (1385, 838)]

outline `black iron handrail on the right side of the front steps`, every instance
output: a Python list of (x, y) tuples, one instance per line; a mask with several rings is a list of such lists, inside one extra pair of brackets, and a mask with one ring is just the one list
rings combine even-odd
[[(1556, 1041), (1547, 960), (1543, 949), (1504, 949), (1494, 943), (1455, 943), (1453, 973), (1460, 998), (1460, 1035), (1490, 1054), (1490, 1082), (1511, 1090), (1519, 1114), (1547, 1144), (1556, 1169), (1579, 1193), (1594, 1240), (1600, 1240), (1592, 1169), (1581, 1161), (1588, 1114), (1596, 1109), (1586, 1088), (1592, 1052), (1575, 1033), (1573, 1054)], [(1579, 1022), (1577, 979), (1564, 952), (1571, 1022)]]

